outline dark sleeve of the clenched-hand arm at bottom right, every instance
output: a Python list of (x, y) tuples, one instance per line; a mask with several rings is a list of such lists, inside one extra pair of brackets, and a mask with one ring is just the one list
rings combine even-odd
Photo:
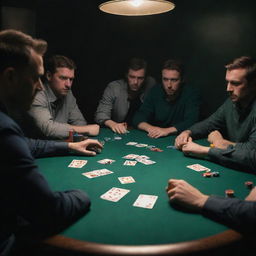
[(256, 202), (210, 196), (202, 214), (243, 233), (255, 234)]

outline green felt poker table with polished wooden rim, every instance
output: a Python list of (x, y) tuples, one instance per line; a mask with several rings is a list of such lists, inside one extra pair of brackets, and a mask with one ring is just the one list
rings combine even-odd
[[(241, 241), (239, 233), (228, 230), (224, 225), (170, 205), (165, 187), (170, 178), (184, 179), (205, 194), (225, 196), (226, 189), (233, 189), (235, 197), (243, 199), (249, 192), (244, 183), (256, 181), (253, 174), (185, 157), (182, 152), (167, 147), (174, 144), (174, 136), (152, 139), (145, 132), (131, 130), (116, 137), (110, 130), (102, 129), (97, 139), (105, 141), (105, 145), (95, 157), (64, 156), (36, 160), (53, 190), (81, 189), (92, 202), (87, 215), (63, 233), (44, 241), (48, 249), (66, 251), (68, 255), (71, 252), (75, 255), (197, 255), (199, 251)], [(156, 146), (163, 152), (126, 145), (128, 142)], [(207, 145), (205, 140), (199, 143)], [(127, 154), (146, 155), (155, 163), (123, 165), (123, 157)], [(106, 158), (115, 162), (105, 165), (97, 162)], [(73, 159), (88, 162), (82, 168), (70, 168), (68, 165)], [(220, 176), (205, 178), (203, 172), (187, 168), (192, 164), (201, 164), (219, 172)], [(91, 179), (82, 175), (103, 168), (113, 173)], [(121, 184), (118, 177), (125, 176), (132, 176), (135, 183)], [(118, 202), (101, 199), (100, 196), (112, 187), (130, 192)], [(133, 206), (140, 194), (158, 196), (153, 209)]]

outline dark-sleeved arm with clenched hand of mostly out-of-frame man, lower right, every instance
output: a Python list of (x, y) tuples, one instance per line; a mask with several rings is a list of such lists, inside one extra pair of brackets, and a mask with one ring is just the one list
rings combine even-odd
[(166, 188), (171, 203), (201, 213), (203, 216), (245, 234), (255, 235), (256, 188), (245, 200), (207, 196), (184, 180), (171, 179)]

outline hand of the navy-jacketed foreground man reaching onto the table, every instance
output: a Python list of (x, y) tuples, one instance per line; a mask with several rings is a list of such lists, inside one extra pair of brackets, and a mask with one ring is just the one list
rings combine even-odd
[(68, 147), (74, 152), (79, 155), (87, 155), (87, 156), (95, 156), (96, 152), (89, 150), (89, 148), (97, 148), (102, 149), (102, 144), (97, 140), (83, 140), (80, 142), (69, 142)]

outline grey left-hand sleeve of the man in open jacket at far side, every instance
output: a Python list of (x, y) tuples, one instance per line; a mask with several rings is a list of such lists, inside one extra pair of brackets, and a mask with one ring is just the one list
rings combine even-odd
[(111, 111), (114, 108), (115, 101), (114, 83), (110, 83), (99, 102), (98, 108), (95, 113), (95, 122), (99, 125), (104, 125), (105, 121), (111, 120)]

